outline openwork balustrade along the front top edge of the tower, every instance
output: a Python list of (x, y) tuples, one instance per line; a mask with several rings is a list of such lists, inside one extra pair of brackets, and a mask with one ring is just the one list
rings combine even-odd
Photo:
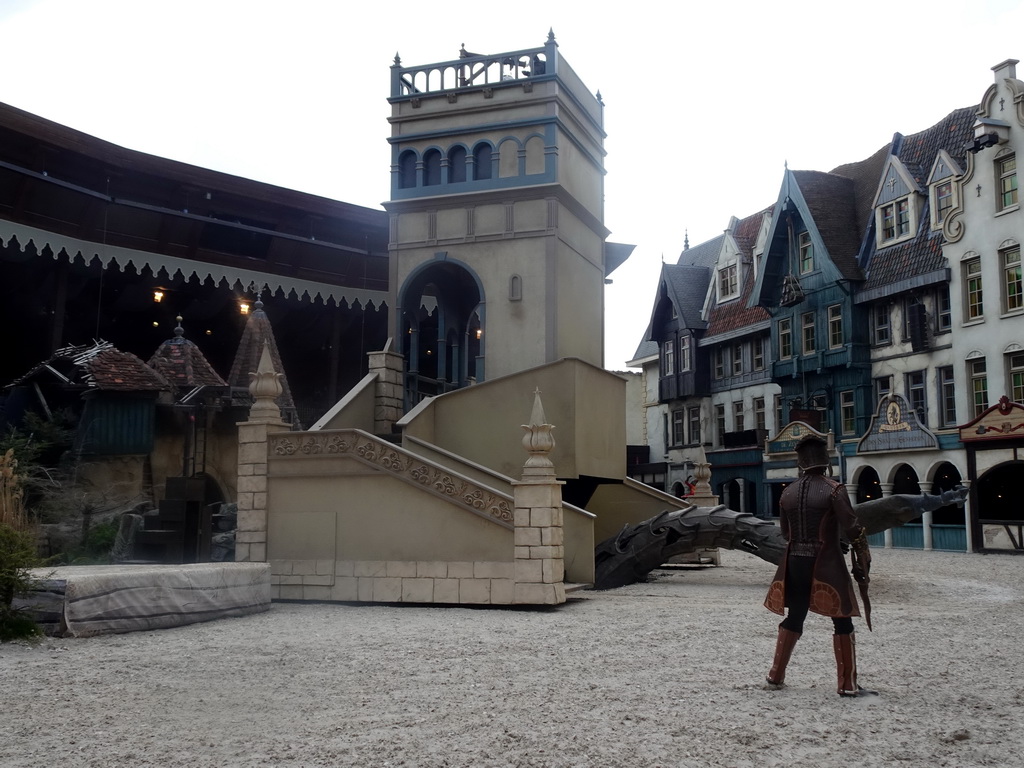
[(402, 67), (398, 56), (391, 67), (391, 96), (422, 96), (465, 88), (488, 88), (521, 82), (555, 72), (554, 41), (540, 48), (481, 55), (465, 47), (452, 61)]

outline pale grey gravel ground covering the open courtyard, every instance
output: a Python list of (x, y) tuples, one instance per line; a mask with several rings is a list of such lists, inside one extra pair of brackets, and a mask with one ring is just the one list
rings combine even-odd
[(1011, 766), (1024, 560), (877, 550), (861, 683), (812, 615), (764, 688), (774, 567), (658, 570), (556, 609), (274, 603), (0, 646), (0, 765)]

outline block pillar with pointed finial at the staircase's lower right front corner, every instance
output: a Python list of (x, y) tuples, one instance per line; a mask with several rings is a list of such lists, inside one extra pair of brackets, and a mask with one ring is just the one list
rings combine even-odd
[(515, 597), (517, 604), (558, 605), (565, 602), (565, 547), (562, 530), (562, 485), (555, 479), (549, 454), (555, 446), (554, 426), (547, 423), (541, 390), (534, 393), (534, 413), (523, 424), (523, 447), (529, 458), (522, 478), (512, 483), (515, 500)]

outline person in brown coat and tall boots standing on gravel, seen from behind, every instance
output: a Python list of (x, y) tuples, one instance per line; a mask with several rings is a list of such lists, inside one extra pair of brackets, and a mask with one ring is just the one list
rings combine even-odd
[(870, 629), (867, 540), (846, 486), (825, 476), (826, 471), (831, 473), (827, 443), (818, 435), (807, 435), (797, 442), (796, 452), (801, 476), (782, 492), (780, 499), (780, 522), (786, 549), (765, 598), (765, 607), (785, 615), (778, 626), (768, 685), (782, 687), (785, 668), (804, 631), (807, 612), (811, 610), (833, 620), (837, 692), (841, 696), (877, 695), (877, 691), (865, 690), (857, 684), (852, 616), (859, 616), (860, 609), (846, 569), (841, 538), (845, 537), (853, 549), (853, 573), (860, 584), (864, 617)]

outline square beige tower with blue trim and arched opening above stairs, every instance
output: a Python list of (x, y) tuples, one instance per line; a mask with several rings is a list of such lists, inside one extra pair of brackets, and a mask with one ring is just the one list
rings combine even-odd
[[(538, 48), (391, 68), (389, 334), (419, 397), (603, 366), (600, 94)], [(614, 259), (611, 259), (614, 260)]]

